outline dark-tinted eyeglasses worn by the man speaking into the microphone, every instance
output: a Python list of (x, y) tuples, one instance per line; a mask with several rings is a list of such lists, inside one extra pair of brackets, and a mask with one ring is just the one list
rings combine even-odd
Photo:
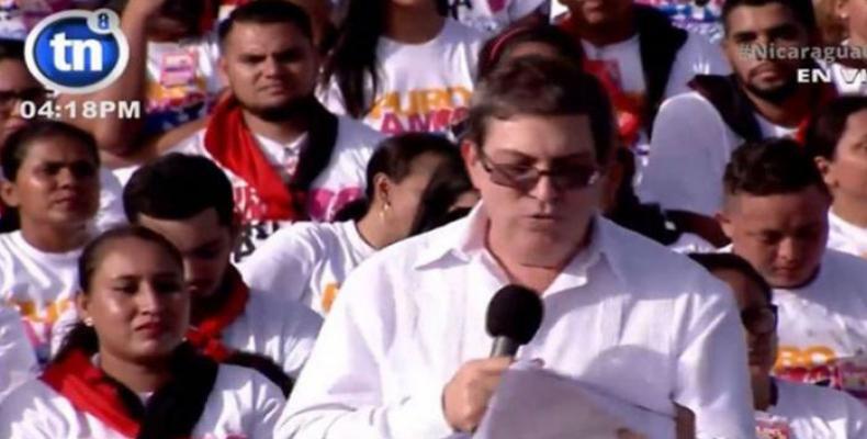
[(536, 188), (542, 176), (548, 176), (551, 179), (551, 184), (561, 191), (586, 188), (595, 183), (601, 176), (597, 167), (589, 165), (552, 167), (549, 170), (541, 170), (530, 165), (496, 164), (481, 149), (480, 157), (482, 168), (491, 175), (492, 182), (522, 192), (529, 192)]

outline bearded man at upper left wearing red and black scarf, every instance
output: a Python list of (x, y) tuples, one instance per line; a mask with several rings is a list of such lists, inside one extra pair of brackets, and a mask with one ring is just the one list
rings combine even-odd
[(243, 226), (235, 262), (288, 222), (330, 221), (361, 196), (379, 133), (329, 113), (314, 97), (318, 55), (301, 7), (257, 0), (222, 23), (219, 72), (230, 97), (207, 126), (170, 150), (216, 162)]

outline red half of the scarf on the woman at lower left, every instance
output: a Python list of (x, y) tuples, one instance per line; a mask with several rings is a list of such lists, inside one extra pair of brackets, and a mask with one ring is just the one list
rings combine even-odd
[(93, 365), (83, 351), (70, 351), (63, 361), (49, 364), (41, 379), (66, 397), (76, 409), (95, 417), (126, 437), (138, 436), (140, 426), (124, 409), (117, 387), (106, 381), (102, 370)]

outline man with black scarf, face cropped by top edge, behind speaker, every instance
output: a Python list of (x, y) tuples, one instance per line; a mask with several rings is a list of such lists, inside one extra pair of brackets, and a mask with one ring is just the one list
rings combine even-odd
[[(731, 68), (705, 36), (675, 27), (661, 11), (633, 0), (560, 0), (568, 13), (559, 25), (574, 35), (584, 66), (609, 85), (621, 136), (643, 164), (660, 104), (688, 90), (696, 75), (725, 75)], [(633, 120), (634, 123), (622, 121)], [(641, 178), (639, 168), (639, 177)]]

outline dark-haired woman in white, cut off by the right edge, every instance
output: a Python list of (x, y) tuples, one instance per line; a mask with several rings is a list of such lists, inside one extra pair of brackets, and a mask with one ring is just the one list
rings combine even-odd
[(806, 144), (834, 195), (827, 247), (867, 258), (867, 97), (822, 109)]

